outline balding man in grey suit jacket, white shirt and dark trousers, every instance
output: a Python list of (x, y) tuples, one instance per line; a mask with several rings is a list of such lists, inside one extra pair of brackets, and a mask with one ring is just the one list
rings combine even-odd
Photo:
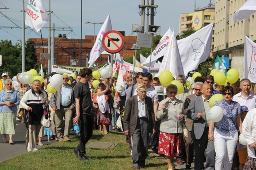
[(204, 170), (204, 149), (206, 148), (205, 170), (214, 170), (214, 145), (211, 141), (208, 141), (211, 85), (207, 83), (202, 84), (201, 92), (201, 96), (192, 98), (187, 112), (188, 118), (193, 119), (191, 136), (194, 141), (195, 151), (194, 169)]

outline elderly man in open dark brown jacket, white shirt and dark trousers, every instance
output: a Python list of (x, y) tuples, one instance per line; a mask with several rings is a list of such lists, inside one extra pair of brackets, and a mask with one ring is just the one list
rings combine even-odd
[(125, 134), (132, 137), (132, 165), (134, 170), (145, 167), (149, 134), (154, 135), (154, 111), (152, 99), (146, 96), (147, 87), (137, 85), (137, 95), (126, 102), (124, 115)]

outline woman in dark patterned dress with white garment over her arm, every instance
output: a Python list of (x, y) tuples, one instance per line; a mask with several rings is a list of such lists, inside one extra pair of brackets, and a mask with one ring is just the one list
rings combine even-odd
[[(109, 108), (112, 108), (112, 96), (111, 96), (111, 88), (109, 87), (110, 77), (106, 77), (104, 81), (102, 81), (97, 88), (97, 95), (102, 96), (105, 95), (105, 100), (107, 101)], [(107, 96), (107, 97), (106, 97)], [(109, 125), (111, 124), (110, 115), (108, 111), (102, 113), (100, 109), (97, 110), (97, 124), (99, 125), (99, 132), (104, 132), (104, 134), (108, 134)], [(102, 131), (103, 129), (103, 131)]]

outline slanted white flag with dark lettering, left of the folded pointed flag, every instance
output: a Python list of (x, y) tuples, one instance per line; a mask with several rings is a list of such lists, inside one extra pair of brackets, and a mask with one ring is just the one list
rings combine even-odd
[(149, 65), (153, 66), (155, 62), (158, 60), (158, 58), (162, 57), (165, 54), (171, 35), (172, 35), (172, 31), (169, 28), (167, 32), (165, 32), (165, 34), (160, 39), (155, 50), (152, 52), (151, 61), (150, 61), (150, 55), (149, 55), (149, 57), (147, 57), (147, 59), (143, 63), (141, 62), (141, 64), (147, 67), (149, 67)]

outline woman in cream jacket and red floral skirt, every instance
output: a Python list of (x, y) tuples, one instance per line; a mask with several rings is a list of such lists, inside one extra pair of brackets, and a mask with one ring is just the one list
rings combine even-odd
[(159, 103), (157, 119), (161, 120), (158, 153), (165, 155), (168, 170), (173, 170), (173, 159), (179, 156), (182, 149), (182, 119), (184, 119), (183, 102), (175, 96), (178, 87), (168, 85), (166, 94), (168, 98)]

